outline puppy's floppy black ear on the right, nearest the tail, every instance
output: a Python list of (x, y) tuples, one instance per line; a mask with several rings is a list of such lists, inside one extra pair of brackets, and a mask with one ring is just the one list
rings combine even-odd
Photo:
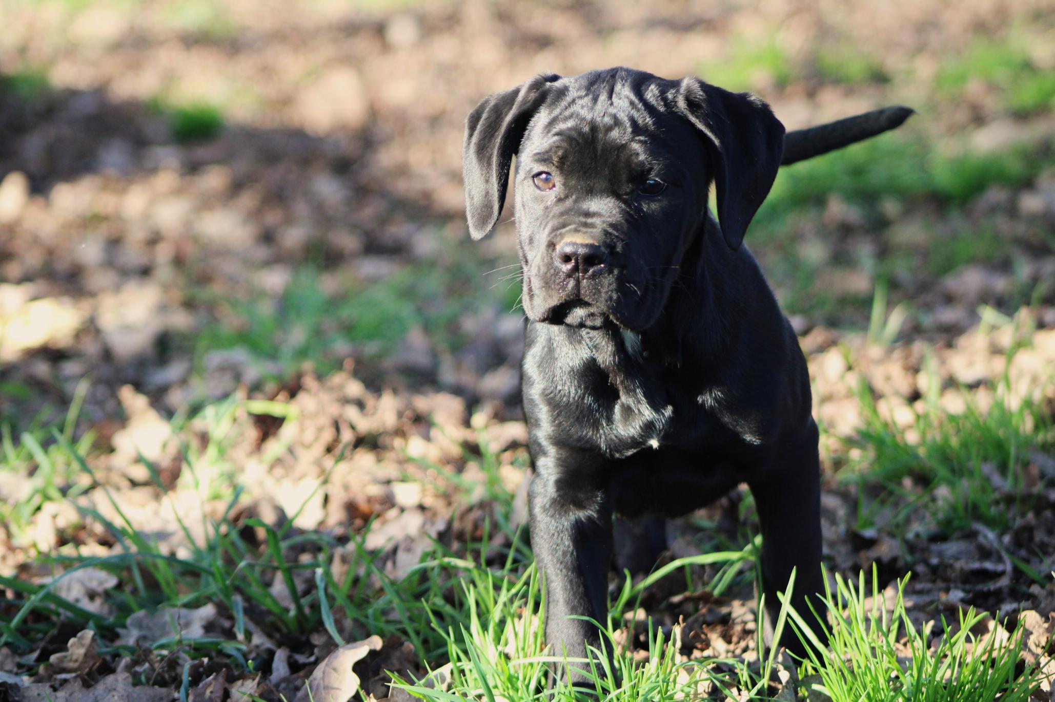
[(762, 98), (730, 93), (691, 76), (678, 85), (677, 109), (706, 137), (722, 235), (730, 249), (738, 249), (776, 177), (784, 125)]

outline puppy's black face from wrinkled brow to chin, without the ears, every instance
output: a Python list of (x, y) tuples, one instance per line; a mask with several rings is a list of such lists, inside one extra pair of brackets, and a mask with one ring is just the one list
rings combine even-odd
[[(703, 147), (669, 109), (674, 84), (629, 69), (563, 78), (532, 120), (518, 156), (517, 223), (524, 308), (536, 321), (601, 314), (636, 331), (659, 316), (706, 211)], [(554, 192), (531, 188), (540, 170), (553, 173)], [(646, 178), (667, 183), (666, 194), (640, 194)], [(571, 280), (569, 266), (554, 265), (555, 245), (576, 229), (612, 257), (607, 272)]]

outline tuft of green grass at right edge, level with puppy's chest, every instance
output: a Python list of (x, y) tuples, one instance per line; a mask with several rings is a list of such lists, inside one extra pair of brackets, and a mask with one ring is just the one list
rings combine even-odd
[[(1009, 365), (1012, 357), (1013, 352)], [(863, 426), (849, 445), (860, 454), (844, 475), (858, 483), (862, 500), (874, 495), (862, 502), (859, 526), (874, 526), (882, 512), (887, 522), (881, 526), (901, 530), (910, 515), (924, 513), (944, 533), (977, 523), (1006, 530), (1033, 507), (1022, 489), (1030, 452), (1055, 450), (1052, 408), (1034, 394), (1013, 399), (1005, 374), (994, 384), (989, 407), (962, 389), (965, 408), (947, 412), (939, 405), (933, 358), (924, 373), (927, 390), (909, 427), (880, 413), (864, 381), (858, 387)], [(994, 475), (1006, 486), (1002, 495), (994, 494)], [(927, 509), (915, 512), (922, 504)], [(897, 507), (891, 511), (891, 506)]]

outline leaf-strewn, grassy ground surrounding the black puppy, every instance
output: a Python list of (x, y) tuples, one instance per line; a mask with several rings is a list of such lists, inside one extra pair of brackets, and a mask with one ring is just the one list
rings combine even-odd
[(542, 699), (513, 227), (466, 240), (462, 124), (619, 64), (918, 114), (747, 236), (809, 358), (831, 655), (759, 641), (741, 490), (612, 573), (601, 695), (1050, 699), (1044, 0), (0, 15), (0, 699)]

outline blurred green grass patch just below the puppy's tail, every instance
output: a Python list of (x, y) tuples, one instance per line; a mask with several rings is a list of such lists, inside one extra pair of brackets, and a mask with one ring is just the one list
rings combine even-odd
[[(917, 117), (916, 119), (920, 119)], [(819, 285), (833, 264), (867, 271), (899, 291), (905, 274), (933, 279), (972, 262), (1010, 258), (1014, 241), (997, 232), (997, 220), (960, 215), (966, 203), (994, 186), (1016, 191), (1055, 164), (1052, 144), (1021, 143), (978, 153), (935, 144), (912, 126), (802, 163), (781, 169), (751, 223), (748, 243), (790, 313), (817, 315), (829, 324), (860, 325), (870, 295)], [(838, 196), (860, 213), (859, 232), (871, 232), (876, 250), (856, 248), (856, 258), (832, 259), (844, 247), (823, 221)], [(886, 209), (923, 211), (917, 220), (890, 219)]]

